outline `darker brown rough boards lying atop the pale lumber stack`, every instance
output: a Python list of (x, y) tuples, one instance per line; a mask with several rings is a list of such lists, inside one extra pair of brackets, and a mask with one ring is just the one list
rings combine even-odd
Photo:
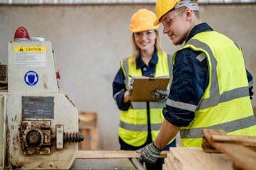
[(235, 169), (256, 170), (256, 136), (227, 135), (224, 130), (212, 129), (203, 129), (202, 133), (205, 152), (216, 149), (232, 160)]

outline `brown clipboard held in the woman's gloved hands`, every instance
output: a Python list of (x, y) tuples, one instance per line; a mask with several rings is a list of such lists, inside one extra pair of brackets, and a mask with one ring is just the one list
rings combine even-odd
[(156, 89), (166, 90), (170, 77), (133, 77), (133, 91), (131, 101), (157, 101), (152, 97)]

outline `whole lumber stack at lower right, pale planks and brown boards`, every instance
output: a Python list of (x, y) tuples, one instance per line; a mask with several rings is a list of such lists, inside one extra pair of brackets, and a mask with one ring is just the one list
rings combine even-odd
[(202, 148), (170, 148), (163, 169), (256, 170), (256, 136), (203, 129)]

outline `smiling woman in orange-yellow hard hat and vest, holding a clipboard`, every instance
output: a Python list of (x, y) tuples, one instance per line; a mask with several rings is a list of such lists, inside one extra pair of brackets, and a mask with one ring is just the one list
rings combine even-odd
[[(131, 17), (130, 30), (133, 53), (121, 60), (113, 82), (113, 96), (121, 118), (119, 142), (121, 150), (135, 151), (155, 140), (164, 117), (162, 108), (168, 99), (168, 89), (152, 93), (156, 101), (131, 101), (133, 77), (160, 77), (172, 75), (172, 56), (162, 52), (158, 27), (154, 26), (156, 15), (147, 9), (139, 9)], [(144, 88), (144, 87), (143, 87)], [(146, 87), (145, 87), (146, 88)], [(175, 140), (166, 146), (176, 146)], [(162, 169), (164, 159), (155, 164), (146, 164), (147, 169)]]

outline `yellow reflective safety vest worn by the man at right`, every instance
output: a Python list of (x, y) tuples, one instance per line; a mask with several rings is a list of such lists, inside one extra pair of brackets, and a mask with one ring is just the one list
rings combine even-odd
[(195, 108), (194, 120), (181, 128), (182, 146), (201, 146), (203, 128), (255, 136), (256, 121), (241, 48), (214, 31), (196, 34), (180, 50), (184, 48), (201, 51), (199, 61), (207, 57), (209, 84)]

